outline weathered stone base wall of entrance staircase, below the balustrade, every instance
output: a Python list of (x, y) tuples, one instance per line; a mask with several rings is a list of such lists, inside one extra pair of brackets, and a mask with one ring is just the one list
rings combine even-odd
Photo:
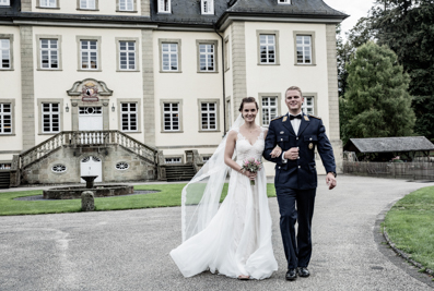
[[(59, 148), (48, 157), (23, 169), (22, 183), (80, 183), (81, 160), (89, 156), (101, 160), (103, 182), (156, 180), (157, 169), (154, 165), (132, 154), (122, 146), (113, 145), (99, 148)], [(128, 169), (116, 169), (118, 162), (127, 163), (129, 166)], [(56, 165), (66, 166), (66, 171), (55, 172), (52, 168)]]

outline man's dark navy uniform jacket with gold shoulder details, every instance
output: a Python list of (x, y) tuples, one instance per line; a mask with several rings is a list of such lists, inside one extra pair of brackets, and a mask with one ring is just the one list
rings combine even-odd
[[(282, 148), (282, 154), (291, 147), (298, 147), (298, 159), (288, 159), (288, 162), (284, 163), (282, 155), (271, 158), (270, 154), (275, 145)], [(277, 163), (275, 187), (296, 190), (317, 187), (315, 148), (321, 157), (326, 172), (336, 172), (333, 149), (326, 135), (326, 128), (319, 118), (303, 113), (298, 134), (295, 134), (288, 113), (273, 119), (268, 128), (263, 157)]]

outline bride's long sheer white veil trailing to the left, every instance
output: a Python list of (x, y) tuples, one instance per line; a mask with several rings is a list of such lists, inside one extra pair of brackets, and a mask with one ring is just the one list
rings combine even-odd
[[(230, 131), (243, 125), (242, 114), (235, 120)], [(224, 163), (224, 149), (227, 134), (219, 144), (207, 163), (183, 189), (181, 223), (183, 242), (202, 231), (219, 209), (224, 182), (230, 169)]]

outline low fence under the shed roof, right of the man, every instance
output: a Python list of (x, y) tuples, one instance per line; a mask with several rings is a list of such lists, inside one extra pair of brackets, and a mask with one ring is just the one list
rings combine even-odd
[(433, 180), (434, 162), (343, 161), (343, 173), (395, 179)]

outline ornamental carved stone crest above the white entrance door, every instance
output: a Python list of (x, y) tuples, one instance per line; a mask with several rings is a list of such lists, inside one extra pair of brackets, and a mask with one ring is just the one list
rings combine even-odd
[(103, 81), (95, 78), (85, 78), (83, 81), (77, 81), (71, 89), (67, 90), (71, 97), (81, 96), (82, 101), (94, 102), (99, 100), (99, 96), (112, 96), (110, 90)]

